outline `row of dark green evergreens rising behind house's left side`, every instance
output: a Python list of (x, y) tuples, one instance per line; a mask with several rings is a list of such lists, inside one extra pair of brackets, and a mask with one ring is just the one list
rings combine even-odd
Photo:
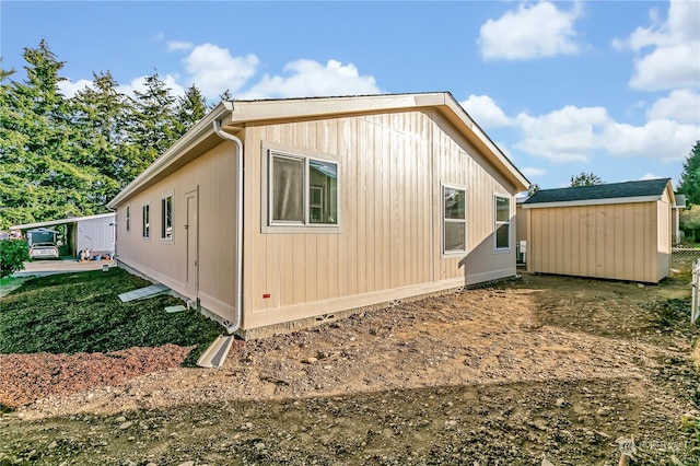
[(133, 98), (109, 72), (68, 98), (46, 40), (23, 56), (23, 81), (0, 69), (0, 229), (106, 212), (207, 112), (195, 85), (176, 100), (158, 73)]

